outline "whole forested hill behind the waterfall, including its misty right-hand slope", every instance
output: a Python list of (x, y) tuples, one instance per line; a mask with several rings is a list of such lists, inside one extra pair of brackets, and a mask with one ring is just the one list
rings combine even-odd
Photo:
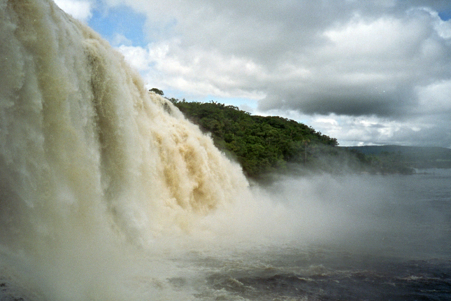
[[(163, 92), (157, 90), (157, 94)], [(251, 179), (280, 173), (413, 173), (394, 157), (341, 148), (335, 138), (294, 120), (253, 116), (236, 106), (213, 101), (168, 100), (203, 132), (210, 133), (215, 146), (239, 162)]]

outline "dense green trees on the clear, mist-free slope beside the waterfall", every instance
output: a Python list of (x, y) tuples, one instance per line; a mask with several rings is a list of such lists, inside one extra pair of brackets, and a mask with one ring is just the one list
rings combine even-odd
[(238, 160), (251, 177), (286, 169), (287, 162), (305, 164), (319, 155), (322, 146), (337, 145), (336, 139), (294, 120), (252, 116), (216, 102), (169, 100), (201, 130), (210, 132), (215, 145)]

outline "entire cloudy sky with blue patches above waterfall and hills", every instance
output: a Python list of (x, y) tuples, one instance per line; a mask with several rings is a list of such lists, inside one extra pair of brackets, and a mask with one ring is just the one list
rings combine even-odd
[(56, 0), (164, 96), (451, 148), (450, 0)]

